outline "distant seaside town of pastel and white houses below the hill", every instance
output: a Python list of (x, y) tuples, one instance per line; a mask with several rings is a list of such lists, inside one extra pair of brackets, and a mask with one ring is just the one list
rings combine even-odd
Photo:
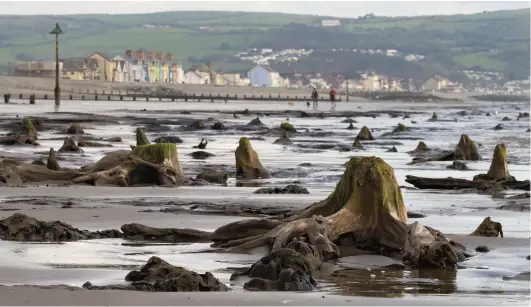
[[(360, 52), (403, 57), (407, 61), (421, 61), (418, 54), (404, 54), (398, 50), (333, 50), (336, 52)], [(173, 54), (144, 50), (126, 50), (123, 55), (108, 56), (94, 52), (86, 58), (65, 58), (59, 62), (60, 76), (70, 80), (104, 80), (116, 83), (158, 84), (212, 84), (216, 86), (258, 86), (285, 88), (344, 89), (346, 91), (409, 91), (409, 92), (477, 92), (485, 94), (529, 94), (529, 80), (511, 81), (505, 84), (497, 72), (464, 71), (474, 86), (434, 75), (427, 80), (393, 78), (373, 71), (358, 72), (358, 79), (348, 79), (341, 74), (320, 72), (280, 74), (270, 66), (272, 61), (296, 62), (312, 50), (248, 49), (235, 56), (255, 64), (246, 74), (214, 71), (210, 64), (192, 65), (185, 68), (175, 61)], [(55, 61), (16, 62), (9, 68), (9, 75), (22, 77), (55, 77)]]

